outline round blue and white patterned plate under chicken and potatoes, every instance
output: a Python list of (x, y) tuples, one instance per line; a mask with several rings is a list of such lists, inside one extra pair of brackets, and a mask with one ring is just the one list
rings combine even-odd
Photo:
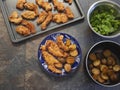
[[(69, 73), (66, 73), (64, 69), (62, 69), (62, 74), (56, 74), (56, 73), (51, 72), (51, 71), (47, 68), (47, 64), (46, 64), (46, 62), (45, 62), (45, 60), (44, 60), (44, 58), (43, 58), (43, 56), (42, 56), (41, 50), (40, 50), (40, 47), (41, 47), (42, 45), (45, 45), (46, 40), (56, 41), (56, 37), (57, 37), (58, 35), (63, 35), (63, 36), (64, 36), (63, 41), (66, 41), (66, 39), (70, 39), (70, 40), (71, 40), (71, 43), (74, 43), (74, 44), (76, 44), (76, 46), (77, 46), (78, 56), (76, 57), (76, 61), (75, 61), (75, 63), (72, 65), (72, 70), (71, 70)], [(67, 75), (70, 75), (70, 74), (74, 73), (74, 72), (77, 70), (78, 66), (80, 65), (81, 59), (82, 59), (82, 52), (81, 52), (81, 48), (80, 48), (80, 45), (79, 45), (78, 41), (77, 41), (74, 37), (72, 37), (71, 35), (68, 35), (68, 34), (66, 34), (66, 33), (53, 33), (53, 34), (48, 35), (47, 37), (45, 37), (45, 38), (43, 39), (43, 41), (40, 43), (39, 48), (38, 48), (38, 60), (39, 60), (39, 62), (40, 62), (40, 64), (41, 64), (42, 68), (43, 68), (48, 74), (53, 75), (53, 76), (67, 76)]]

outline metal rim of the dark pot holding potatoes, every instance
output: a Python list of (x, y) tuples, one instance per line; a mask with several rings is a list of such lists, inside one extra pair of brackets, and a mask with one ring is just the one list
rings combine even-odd
[(98, 85), (104, 86), (104, 87), (115, 87), (115, 86), (117, 86), (117, 85), (120, 85), (120, 82), (119, 82), (119, 83), (116, 83), (116, 84), (114, 84), (114, 85), (101, 84), (101, 83), (99, 83), (98, 81), (96, 81), (96, 80), (91, 76), (90, 71), (89, 71), (89, 69), (88, 69), (88, 56), (89, 56), (91, 50), (92, 50), (95, 46), (97, 46), (97, 45), (99, 45), (99, 44), (101, 44), (101, 43), (107, 43), (107, 42), (108, 42), (108, 43), (113, 43), (113, 44), (116, 44), (116, 45), (120, 46), (119, 43), (117, 43), (117, 42), (115, 42), (115, 41), (111, 41), (111, 40), (103, 40), (103, 41), (99, 41), (99, 42), (95, 43), (92, 47), (90, 47), (90, 49), (89, 49), (88, 52), (87, 52), (87, 55), (86, 55), (86, 58), (85, 58), (85, 66), (86, 66), (86, 70), (87, 70), (88, 75), (90, 76), (90, 78), (91, 78), (95, 83), (97, 83)]

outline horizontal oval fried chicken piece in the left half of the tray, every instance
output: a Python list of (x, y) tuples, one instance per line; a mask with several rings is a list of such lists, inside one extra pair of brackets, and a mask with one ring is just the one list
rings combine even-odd
[(30, 19), (31, 20), (31, 19), (35, 19), (36, 14), (35, 14), (34, 11), (28, 11), (27, 10), (27, 11), (22, 12), (21, 16), (25, 19)]

